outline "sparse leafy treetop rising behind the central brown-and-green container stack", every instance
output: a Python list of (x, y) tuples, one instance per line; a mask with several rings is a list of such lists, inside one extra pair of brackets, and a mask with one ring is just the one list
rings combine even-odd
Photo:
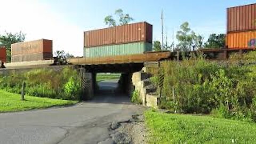
[(130, 17), (129, 14), (124, 14), (122, 9), (118, 9), (115, 11), (115, 16), (118, 18), (118, 20), (116, 20), (113, 15), (108, 15), (107, 17), (105, 17), (105, 23), (106, 25), (108, 25), (109, 27), (113, 26), (122, 26), (122, 25), (126, 25), (127, 23), (130, 23), (131, 21), (133, 21), (133, 18)]

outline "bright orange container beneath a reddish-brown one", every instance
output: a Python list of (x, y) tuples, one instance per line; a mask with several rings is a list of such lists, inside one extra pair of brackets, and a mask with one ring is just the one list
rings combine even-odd
[(226, 45), (229, 49), (256, 48), (256, 30), (228, 33)]

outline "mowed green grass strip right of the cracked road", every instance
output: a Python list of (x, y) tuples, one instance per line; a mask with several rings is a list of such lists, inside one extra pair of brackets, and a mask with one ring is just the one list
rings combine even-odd
[(149, 143), (255, 143), (256, 124), (146, 111)]

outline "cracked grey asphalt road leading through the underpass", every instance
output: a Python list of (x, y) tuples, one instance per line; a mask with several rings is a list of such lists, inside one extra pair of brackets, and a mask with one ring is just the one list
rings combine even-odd
[(100, 95), (72, 107), (0, 114), (0, 143), (113, 143), (111, 123), (141, 113), (116, 86), (101, 82)]

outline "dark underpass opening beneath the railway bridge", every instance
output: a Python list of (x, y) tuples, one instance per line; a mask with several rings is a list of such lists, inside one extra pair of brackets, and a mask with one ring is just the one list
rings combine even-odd
[(133, 91), (132, 74), (140, 71), (143, 67), (144, 63), (77, 65), (77, 68), (81, 69), (85, 75), (89, 74), (89, 78), (87, 76), (84, 77), (85, 79), (83, 78), (85, 80), (83, 86), (85, 90), (84, 99), (99, 99), (99, 97), (119, 95), (129, 100)]

